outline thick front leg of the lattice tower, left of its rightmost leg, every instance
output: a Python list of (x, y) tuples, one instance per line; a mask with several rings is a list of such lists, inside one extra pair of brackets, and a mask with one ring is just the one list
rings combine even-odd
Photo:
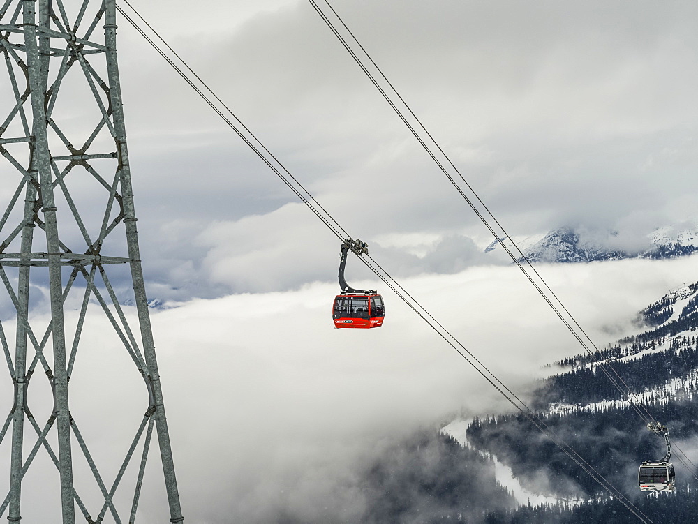
[[(47, 3), (40, 4), (40, 10)], [(61, 246), (58, 237), (56, 205), (46, 133), (46, 71), (45, 57), (40, 57), (36, 31), (36, 0), (23, 1), (24, 45), (27, 52), (29, 87), (31, 88), (32, 136), (34, 149), (32, 162), (39, 175), (40, 197), (46, 233), (49, 288), (51, 302), (51, 328), (54, 359), (54, 396), (58, 429), (59, 472), (61, 477), (61, 507), (64, 524), (75, 523), (73, 495), (73, 458), (70, 451), (70, 411), (68, 407), (68, 375), (66, 368), (66, 339), (63, 312), (63, 284), (61, 278)]]

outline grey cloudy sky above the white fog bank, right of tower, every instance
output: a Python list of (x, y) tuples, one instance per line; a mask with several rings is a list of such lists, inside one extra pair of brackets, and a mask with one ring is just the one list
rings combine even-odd
[[(581, 224), (633, 244), (695, 209), (695, 6), (333, 6), (512, 236)], [(489, 244), (309, 3), (221, 3), (215, 32), (202, 13), (181, 24), (172, 3), (139, 8), (351, 234), (372, 246), (396, 235), (415, 248), (454, 235)], [(295, 197), (139, 38), (122, 24), (144, 260), (159, 294), (332, 278), (319, 260), (336, 241), (306, 225), (308, 211), (284, 208)], [(247, 277), (251, 250), (273, 262), (265, 278)], [(242, 266), (228, 264), (238, 252)], [(459, 255), (480, 262), (467, 246)], [(419, 269), (453, 268), (413, 260), (406, 274)]]

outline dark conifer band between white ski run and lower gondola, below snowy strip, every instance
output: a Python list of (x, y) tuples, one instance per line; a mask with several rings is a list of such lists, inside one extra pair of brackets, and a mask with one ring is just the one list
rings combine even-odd
[[(698, 407), (693, 401), (658, 404), (648, 410), (669, 427), (674, 440), (698, 433)], [(542, 419), (552, 433), (603, 472), (611, 483), (628, 491), (637, 491), (639, 464), (662, 458), (666, 451), (664, 440), (647, 431), (630, 407)], [(524, 486), (530, 482), (540, 487), (535, 479), (542, 473), (557, 495), (602, 494), (601, 486), (592, 477), (521, 414), (475, 419), (468, 427), (468, 441), (509, 465)]]

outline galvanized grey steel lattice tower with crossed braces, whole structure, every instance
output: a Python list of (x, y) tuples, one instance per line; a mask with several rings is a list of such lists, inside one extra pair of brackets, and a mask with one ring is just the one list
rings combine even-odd
[[(103, 40), (98, 28), (104, 29)], [(0, 0), (0, 60), (8, 73), (6, 82), (0, 83), (0, 154), (5, 160), (0, 159), (0, 199), (8, 201), (0, 218), (0, 290), (4, 297), (0, 297), (0, 345), (14, 385), (12, 407), (0, 429), (2, 444), (12, 428), (9, 489), (0, 498), (0, 517), (8, 511), (10, 522), (21, 520), (22, 479), (43, 449), (59, 470), (64, 523), (75, 522), (76, 503), (88, 523), (102, 522), (107, 511), (121, 523), (114, 495), (117, 488), (121, 493), (128, 487), (122, 482), (124, 472), (140, 446), (138, 475), (133, 491), (128, 491), (133, 493), (133, 498), (128, 495), (128, 522), (133, 523), (154, 430), (170, 522), (184, 521), (140, 262), (116, 31), (114, 0)], [(77, 111), (80, 117), (82, 108), (89, 107), (94, 112), (91, 123), (81, 120), (75, 124), (74, 114), (58, 109), (63, 98), (75, 96), (73, 86), (80, 82), (86, 96), (75, 107), (81, 108)], [(84, 142), (78, 141), (77, 135), (86, 126), (94, 127), (89, 128)], [(76, 142), (82, 145), (76, 147)], [(124, 306), (127, 302), (119, 284), (107, 276), (118, 267), (129, 281), (126, 288), (131, 295), (128, 302), (135, 304), (133, 314), (133, 307)], [(40, 308), (30, 307), (37, 290), (38, 294), (47, 290), (50, 297), (50, 308), (43, 317)], [(75, 306), (70, 317), (73, 324), (68, 325), (65, 309), (71, 300), (80, 306)], [(11, 315), (1, 307), (3, 301)], [(95, 308), (105, 315), (119, 347), (133, 361), (134, 373), (142, 376), (143, 405), (147, 406), (140, 424), (134, 424), (131, 445), (121, 450), (121, 466), (110, 483), (78, 428), (78, 422), (84, 421), (73, 418), (69, 409), (68, 381), (80, 360), (81, 336), (92, 315), (88, 310)], [(50, 320), (44, 320), (47, 327), (39, 331), (36, 324), (48, 317)], [(138, 322), (140, 340), (129, 317)], [(28, 350), (34, 350), (33, 354), (27, 354)], [(45, 352), (52, 352), (52, 363)], [(37, 380), (30, 379), (38, 366), (53, 394), (52, 412), (43, 426), (27, 401), (29, 383)], [(99, 424), (86, 424), (89, 422)], [(50, 438), (57, 440), (57, 452)], [(28, 454), (25, 440), (33, 442)], [(91, 509), (91, 502), (85, 502), (75, 488), (75, 444), (101, 493)]]

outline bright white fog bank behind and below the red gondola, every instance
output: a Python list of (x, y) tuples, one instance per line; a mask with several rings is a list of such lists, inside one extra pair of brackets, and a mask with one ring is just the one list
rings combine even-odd
[[(692, 264), (624, 260), (540, 271), (604, 344), (636, 331), (637, 310), (690, 281)], [(403, 283), (524, 398), (543, 364), (581, 351), (512, 268)], [(390, 294), (381, 329), (334, 330), (334, 293), (315, 284), (154, 315), (187, 514), (201, 522), (351, 521), (366, 504), (361, 472), (391, 443), (425, 424), (510, 410)]]

